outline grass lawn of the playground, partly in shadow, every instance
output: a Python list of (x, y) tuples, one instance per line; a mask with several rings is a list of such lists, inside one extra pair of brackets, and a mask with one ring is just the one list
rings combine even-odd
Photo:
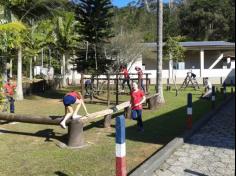
[[(59, 97), (64, 91), (47, 92), (16, 102), (16, 113), (62, 115)], [(166, 104), (155, 111), (145, 110), (145, 132), (136, 130), (136, 122), (127, 120), (127, 164), (132, 171), (174, 137), (182, 134), (186, 123), (187, 93), (193, 93), (194, 121), (211, 109), (211, 102), (199, 100), (201, 92), (191, 89), (165, 92)], [(50, 97), (50, 98), (47, 98)], [(128, 97), (123, 97), (122, 100)], [(223, 99), (217, 96), (217, 104)], [(105, 105), (89, 104), (89, 112), (105, 109)], [(84, 112), (82, 112), (84, 113)], [(60, 148), (67, 131), (59, 126), (34, 124), (0, 125), (0, 176), (113, 176), (115, 175), (115, 124), (102, 128), (102, 121), (87, 124), (83, 149)]]

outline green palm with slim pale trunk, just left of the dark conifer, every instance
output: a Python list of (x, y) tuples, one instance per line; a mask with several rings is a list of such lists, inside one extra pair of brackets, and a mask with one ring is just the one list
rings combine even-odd
[(62, 76), (63, 87), (66, 87), (66, 64), (70, 56), (70, 52), (78, 45), (79, 36), (75, 32), (75, 26), (78, 24), (75, 21), (73, 13), (65, 13), (56, 20), (56, 45), (62, 54)]

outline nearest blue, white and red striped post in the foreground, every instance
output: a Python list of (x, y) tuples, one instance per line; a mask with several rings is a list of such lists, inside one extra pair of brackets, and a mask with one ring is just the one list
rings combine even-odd
[(126, 176), (125, 117), (116, 118), (116, 176)]

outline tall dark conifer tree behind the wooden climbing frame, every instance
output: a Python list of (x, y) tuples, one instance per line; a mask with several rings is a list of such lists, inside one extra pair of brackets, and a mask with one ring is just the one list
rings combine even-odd
[(81, 0), (76, 8), (76, 19), (81, 39), (88, 43), (78, 54), (78, 71), (104, 73), (112, 63), (106, 58), (104, 45), (112, 37), (112, 5), (110, 0)]

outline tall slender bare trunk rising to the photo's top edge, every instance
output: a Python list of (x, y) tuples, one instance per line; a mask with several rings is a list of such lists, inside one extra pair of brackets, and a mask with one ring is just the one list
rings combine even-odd
[(158, 103), (165, 103), (162, 85), (162, 60), (163, 60), (163, 2), (158, 0), (158, 12), (157, 25), (158, 25), (158, 57), (157, 57), (157, 80), (156, 80), (156, 92), (159, 93)]

